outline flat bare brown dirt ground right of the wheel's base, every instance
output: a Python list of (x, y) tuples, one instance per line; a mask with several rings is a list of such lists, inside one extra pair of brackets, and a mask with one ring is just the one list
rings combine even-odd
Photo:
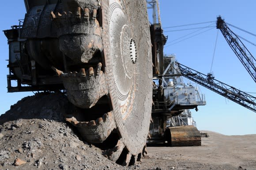
[(225, 136), (211, 131), (199, 147), (148, 147), (141, 169), (256, 170), (256, 135)]

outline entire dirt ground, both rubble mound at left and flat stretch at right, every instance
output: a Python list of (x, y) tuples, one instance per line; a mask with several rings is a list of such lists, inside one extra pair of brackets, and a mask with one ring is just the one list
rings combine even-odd
[(149, 158), (124, 167), (82, 141), (63, 120), (68, 107), (61, 93), (36, 94), (0, 116), (0, 170), (186, 170), (256, 169), (256, 135), (208, 133), (200, 147), (148, 147)]

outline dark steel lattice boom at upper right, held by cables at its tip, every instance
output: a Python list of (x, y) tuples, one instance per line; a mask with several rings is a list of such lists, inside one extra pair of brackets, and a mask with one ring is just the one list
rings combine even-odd
[(237, 55), (238, 59), (244, 65), (252, 79), (256, 82), (256, 60), (248, 51), (239, 37), (230, 30), (225, 21), (219, 16), (217, 18), (217, 29), (221, 30), (226, 41), (232, 48), (233, 52)]

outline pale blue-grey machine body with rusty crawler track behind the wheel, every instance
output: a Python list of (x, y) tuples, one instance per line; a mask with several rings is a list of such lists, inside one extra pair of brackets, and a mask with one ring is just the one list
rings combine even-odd
[(168, 143), (170, 146), (200, 146), (200, 131), (195, 124), (183, 123), (180, 116), (188, 112), (188, 109), (197, 111), (198, 106), (205, 105), (205, 97), (196, 87), (184, 84), (175, 54), (163, 54), (167, 37), (163, 34), (161, 24), (151, 25), (151, 41), (153, 105), (147, 142)]

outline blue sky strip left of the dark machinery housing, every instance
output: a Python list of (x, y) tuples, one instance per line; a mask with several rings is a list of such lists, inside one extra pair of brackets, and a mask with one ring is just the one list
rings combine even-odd
[[(11, 26), (18, 25), (19, 19), (23, 19), (26, 13), (23, 0), (8, 0), (0, 6), (0, 30), (11, 29)], [(0, 114), (10, 109), (10, 106), (25, 96), (34, 95), (32, 92), (7, 93), (7, 68), (8, 44), (4, 32), (0, 33)]]

